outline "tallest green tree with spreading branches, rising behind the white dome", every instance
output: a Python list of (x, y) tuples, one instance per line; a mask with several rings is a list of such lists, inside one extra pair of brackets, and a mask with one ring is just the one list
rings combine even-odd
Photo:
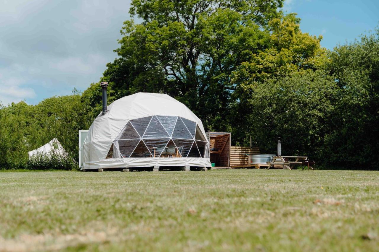
[(208, 129), (225, 128), (230, 76), (267, 45), (263, 29), (282, 0), (133, 0), (119, 58), (104, 81), (117, 98), (135, 92), (168, 93), (185, 103)]

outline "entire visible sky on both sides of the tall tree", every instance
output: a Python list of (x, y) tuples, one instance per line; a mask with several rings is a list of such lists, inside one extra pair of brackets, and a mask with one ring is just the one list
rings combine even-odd
[[(99, 81), (113, 61), (130, 0), (1, 0), (0, 101), (37, 104)], [(332, 49), (379, 21), (379, 0), (286, 0), (300, 28)]]

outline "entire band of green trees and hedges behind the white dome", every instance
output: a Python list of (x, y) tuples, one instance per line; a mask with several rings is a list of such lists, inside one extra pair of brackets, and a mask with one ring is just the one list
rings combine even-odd
[[(232, 132), (233, 145), (307, 155), (330, 166), (377, 169), (379, 31), (333, 51), (300, 30), (283, 0), (133, 0), (120, 47), (100, 81), (108, 103), (136, 92), (167, 93), (205, 130)], [(78, 158), (78, 130), (102, 108), (99, 83), (83, 93), (0, 107), (0, 168), (66, 167), (27, 151), (58, 138)]]

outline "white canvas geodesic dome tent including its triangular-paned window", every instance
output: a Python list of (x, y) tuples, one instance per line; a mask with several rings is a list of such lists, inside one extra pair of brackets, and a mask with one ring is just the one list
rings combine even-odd
[(166, 94), (135, 93), (100, 113), (83, 144), (82, 170), (211, 166), (201, 120)]

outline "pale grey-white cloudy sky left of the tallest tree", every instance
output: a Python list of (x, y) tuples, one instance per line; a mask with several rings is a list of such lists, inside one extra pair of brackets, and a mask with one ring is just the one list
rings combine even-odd
[(36, 104), (96, 82), (114, 49), (130, 0), (3, 0), (0, 8), (0, 93), (3, 104)]

